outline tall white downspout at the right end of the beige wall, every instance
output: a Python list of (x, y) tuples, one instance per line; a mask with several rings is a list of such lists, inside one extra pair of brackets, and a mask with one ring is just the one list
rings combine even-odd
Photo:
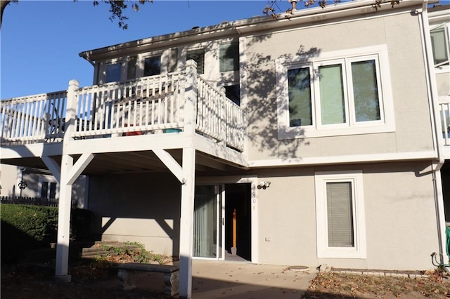
[[(445, 232), (445, 215), (444, 215), (444, 197), (442, 194), (442, 180), (440, 175), (440, 169), (444, 165), (444, 154), (442, 152), (442, 138), (439, 136), (441, 128), (439, 126), (440, 119), (439, 112), (436, 107), (439, 107), (439, 98), (437, 95), (437, 83), (434, 68), (434, 60), (432, 57), (432, 46), (430, 37), (430, 26), (428, 24), (428, 0), (424, 0), (422, 4), (422, 11), (420, 13), (421, 19), (420, 27), (422, 27), (422, 34), (424, 39), (423, 51), (425, 53), (425, 69), (426, 77), (428, 77), (428, 95), (430, 98), (430, 117), (432, 120), (433, 143), (435, 144), (435, 152), (437, 154), (437, 161), (432, 164), (432, 180), (435, 194), (435, 207), (437, 218), (437, 237), (439, 242), (439, 260), (440, 266), (444, 271), (450, 273), (448, 264), (448, 257), (446, 254), (446, 232)], [(432, 255), (434, 255), (433, 253)]]

